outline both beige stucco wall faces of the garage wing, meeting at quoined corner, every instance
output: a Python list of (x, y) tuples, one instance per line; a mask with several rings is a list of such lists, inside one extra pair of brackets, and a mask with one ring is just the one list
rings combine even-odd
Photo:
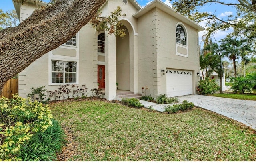
[(173, 16), (154, 8), (138, 18), (138, 88), (148, 86), (148, 94), (166, 94), (166, 68), (193, 71), (193, 93), (199, 72), (198, 31), (182, 22), (187, 29), (188, 57), (176, 55), (176, 24)]

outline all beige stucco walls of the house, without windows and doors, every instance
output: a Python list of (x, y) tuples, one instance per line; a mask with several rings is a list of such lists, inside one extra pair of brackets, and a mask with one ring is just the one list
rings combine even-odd
[[(126, 14), (124, 18), (120, 18), (127, 27), (124, 39), (108, 36), (106, 32), (105, 56), (98, 56), (98, 31), (87, 24), (78, 33), (77, 47), (61, 45), (20, 73), (20, 95), (26, 97), (31, 87), (46, 86), (48, 90), (58, 88), (49, 82), (51, 77), (49, 64), (52, 59), (78, 62), (78, 84), (86, 84), (89, 96), (90, 90), (97, 86), (99, 61), (105, 64), (105, 97), (109, 100), (115, 98), (116, 82), (119, 84), (119, 89), (136, 93), (142, 93), (141, 88), (147, 86), (146, 95), (154, 98), (158, 94), (166, 93), (166, 75), (161, 75), (161, 70), (167, 68), (193, 71), (193, 93), (196, 93), (195, 88), (198, 83), (196, 73), (199, 72), (198, 31), (182, 22), (188, 33), (188, 57), (182, 57), (176, 55), (175, 30), (179, 20), (160, 8), (154, 8), (136, 19), (132, 15), (137, 9), (130, 1), (124, 4), (122, 0), (106, 2), (102, 8), (102, 15), (110, 14), (116, 6), (120, 6)], [(26, 9), (29, 11), (26, 13), (31, 14), (34, 7), (27, 6)]]

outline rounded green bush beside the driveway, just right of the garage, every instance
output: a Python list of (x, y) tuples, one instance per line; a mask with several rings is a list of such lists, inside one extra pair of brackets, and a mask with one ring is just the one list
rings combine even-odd
[(197, 86), (197, 91), (201, 95), (214, 94), (219, 90), (220, 86), (218, 86), (214, 79), (210, 78), (205, 78), (205, 80), (201, 80)]

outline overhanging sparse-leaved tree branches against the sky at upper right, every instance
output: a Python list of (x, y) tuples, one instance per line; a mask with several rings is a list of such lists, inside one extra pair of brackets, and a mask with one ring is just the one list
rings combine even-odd
[[(256, 36), (255, 17), (256, 17), (256, 2), (255, 0), (239, 0), (239, 1), (224, 1), (224, 0), (171, 0), (173, 8), (188, 16), (190, 19), (201, 22), (207, 21), (207, 36), (218, 30), (228, 30), (231, 27), (234, 36), (247, 37), (254, 41)], [(221, 17), (215, 13), (199, 12), (202, 7), (211, 7), (210, 4), (220, 4), (222, 6), (234, 6), (236, 15), (230, 14), (227, 17)], [(217, 10), (217, 8), (215, 9)], [(213, 10), (214, 11), (214, 10)]]

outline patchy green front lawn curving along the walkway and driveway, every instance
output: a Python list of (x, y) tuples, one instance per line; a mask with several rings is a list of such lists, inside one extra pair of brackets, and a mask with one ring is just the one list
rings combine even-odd
[(256, 161), (255, 130), (199, 108), (163, 114), (99, 100), (50, 106), (74, 136), (68, 161)]

